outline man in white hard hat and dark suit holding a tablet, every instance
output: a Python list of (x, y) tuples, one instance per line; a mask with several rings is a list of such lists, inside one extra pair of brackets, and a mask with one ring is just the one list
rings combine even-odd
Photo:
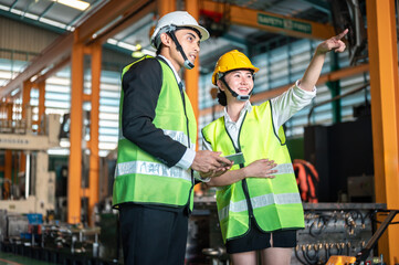
[(168, 13), (151, 35), (157, 56), (123, 71), (113, 205), (125, 264), (183, 264), (193, 170), (217, 177), (231, 167), (220, 152), (196, 151), (196, 117), (178, 75), (208, 38), (188, 12)]

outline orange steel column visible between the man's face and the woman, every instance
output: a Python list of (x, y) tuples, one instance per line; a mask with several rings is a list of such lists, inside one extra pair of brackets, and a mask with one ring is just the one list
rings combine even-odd
[[(199, 3), (198, 0), (186, 0), (186, 10), (189, 12), (197, 21), (199, 19)], [(198, 54), (199, 55), (199, 54)], [(199, 118), (199, 107), (198, 107), (198, 83), (199, 83), (199, 57), (196, 61), (196, 67), (192, 70), (186, 70), (186, 92), (190, 98), (193, 113), (196, 115), (197, 125)], [(198, 134), (197, 134), (198, 135)], [(197, 145), (198, 149), (198, 145)]]

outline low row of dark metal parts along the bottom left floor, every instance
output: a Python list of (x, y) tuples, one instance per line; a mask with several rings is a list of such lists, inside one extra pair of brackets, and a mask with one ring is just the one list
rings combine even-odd
[(44, 223), (42, 219), (42, 214), (0, 210), (0, 251), (52, 264), (118, 264), (117, 257), (101, 258), (99, 227)]

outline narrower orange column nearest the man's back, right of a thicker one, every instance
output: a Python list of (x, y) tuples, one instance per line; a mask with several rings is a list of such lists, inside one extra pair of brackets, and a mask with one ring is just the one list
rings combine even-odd
[(90, 124), (90, 172), (88, 172), (88, 220), (94, 225), (94, 205), (98, 202), (98, 124), (99, 124), (99, 83), (102, 70), (102, 45), (92, 46), (92, 110)]

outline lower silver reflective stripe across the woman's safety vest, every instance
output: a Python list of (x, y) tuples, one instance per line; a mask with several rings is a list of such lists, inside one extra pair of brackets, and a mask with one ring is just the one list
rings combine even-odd
[[(251, 198), (252, 208), (263, 208), (272, 204), (290, 204), (290, 203), (301, 203), (300, 193), (282, 193), (282, 194), (264, 194), (255, 198)], [(244, 212), (248, 211), (246, 201), (242, 200), (239, 202), (231, 202), (229, 205), (220, 210), (219, 220), (229, 216), (230, 212)]]

